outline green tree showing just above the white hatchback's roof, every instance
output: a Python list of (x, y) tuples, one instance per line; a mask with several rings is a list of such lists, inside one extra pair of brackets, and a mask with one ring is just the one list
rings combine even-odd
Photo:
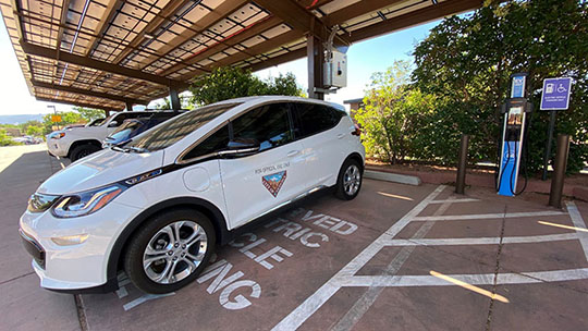
[(240, 68), (217, 68), (191, 86), (192, 103), (209, 105), (226, 99), (261, 95), (301, 96), (302, 89), (292, 73), (261, 81)]

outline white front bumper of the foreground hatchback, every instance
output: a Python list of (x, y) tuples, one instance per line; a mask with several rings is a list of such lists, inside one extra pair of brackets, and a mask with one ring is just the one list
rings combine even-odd
[[(85, 217), (58, 219), (50, 211), (21, 217), (20, 232), (33, 256), (33, 269), (41, 287), (53, 291), (86, 292), (108, 284), (110, 252), (137, 208), (110, 203)], [(58, 245), (52, 238), (87, 234), (82, 244)], [(109, 286), (112, 287), (112, 286)], [(114, 286), (115, 289), (115, 286)]]

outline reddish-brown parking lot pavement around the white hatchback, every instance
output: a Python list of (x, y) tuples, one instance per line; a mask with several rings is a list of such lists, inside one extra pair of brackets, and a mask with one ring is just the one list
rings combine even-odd
[(558, 210), (546, 207), (544, 196), (504, 198), (479, 188), (462, 196), (451, 186), (371, 180), (355, 200), (313, 196), (219, 247), (197, 282), (176, 293), (140, 293), (121, 273), (115, 293), (76, 303), (38, 287), (16, 234), (27, 196), (66, 163), (42, 150), (0, 155), (0, 185), (11, 187), (0, 204), (9, 253), (0, 261), (3, 330), (588, 324), (588, 204), (567, 201)]

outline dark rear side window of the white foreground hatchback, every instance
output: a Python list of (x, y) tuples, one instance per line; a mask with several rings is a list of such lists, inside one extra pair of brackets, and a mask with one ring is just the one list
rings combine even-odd
[(342, 110), (316, 103), (295, 103), (296, 137), (307, 137), (334, 127), (345, 115)]

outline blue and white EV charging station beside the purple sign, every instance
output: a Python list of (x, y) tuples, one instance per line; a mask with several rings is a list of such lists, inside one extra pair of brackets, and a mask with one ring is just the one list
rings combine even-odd
[(527, 95), (527, 73), (511, 76), (511, 97), (502, 106), (504, 126), (498, 176), (498, 194), (515, 196), (525, 138), (526, 114), (532, 110)]

